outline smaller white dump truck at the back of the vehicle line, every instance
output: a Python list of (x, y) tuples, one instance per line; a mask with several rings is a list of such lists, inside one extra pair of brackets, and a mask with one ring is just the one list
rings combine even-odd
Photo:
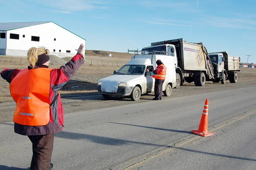
[(227, 52), (212, 52), (209, 57), (213, 64), (214, 78), (213, 83), (225, 84), (226, 80), (230, 83), (238, 81), (237, 72), (240, 71), (240, 58), (229, 56)]

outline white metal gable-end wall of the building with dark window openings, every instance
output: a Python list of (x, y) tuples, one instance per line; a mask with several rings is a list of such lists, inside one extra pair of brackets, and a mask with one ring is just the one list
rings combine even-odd
[[(19, 40), (10, 39), (10, 33), (19, 34)], [(23, 35), (25, 35), (25, 37), (23, 37)], [(32, 41), (31, 36), (40, 37), (40, 41)], [(56, 40), (54, 40), (54, 38)], [(85, 45), (84, 39), (52, 22), (9, 30), (6, 34), (6, 40), (6, 49), (8, 49), (9, 52), (14, 50), (27, 51), (32, 46), (44, 46), (49, 49), (50, 54), (54, 53), (55, 55), (58, 54), (58, 56), (72, 56), (76, 54), (76, 49), (79, 47), (80, 43)], [(53, 52), (53, 49), (55, 49), (55, 52)], [(59, 50), (61, 50), (61, 52), (59, 52)], [(69, 50), (70, 53), (66, 52), (67, 50)], [(15, 53), (17, 55), (17, 52)], [(6, 55), (12, 54), (9, 53)]]

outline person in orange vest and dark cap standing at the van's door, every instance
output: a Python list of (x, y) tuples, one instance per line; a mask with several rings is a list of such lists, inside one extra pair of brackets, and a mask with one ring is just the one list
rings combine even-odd
[(155, 84), (154, 84), (155, 98), (153, 98), (153, 100), (162, 100), (163, 82), (166, 77), (166, 66), (164, 66), (161, 60), (157, 60), (156, 63), (157, 63), (157, 68), (153, 70), (154, 75), (152, 76), (153, 78), (155, 78)]

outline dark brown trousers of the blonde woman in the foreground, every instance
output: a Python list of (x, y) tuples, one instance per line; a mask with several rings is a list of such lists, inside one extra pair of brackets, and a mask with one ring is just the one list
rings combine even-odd
[(28, 136), (32, 142), (33, 156), (30, 170), (49, 170), (53, 150), (54, 135)]

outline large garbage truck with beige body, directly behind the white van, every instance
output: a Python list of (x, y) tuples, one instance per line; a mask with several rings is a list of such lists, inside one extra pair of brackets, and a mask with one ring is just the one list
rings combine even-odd
[(213, 65), (203, 43), (190, 43), (179, 38), (151, 43), (151, 46), (143, 48), (142, 51), (160, 51), (173, 56), (176, 88), (182, 86), (185, 81), (194, 81), (195, 86), (204, 86), (206, 81), (214, 79)]

